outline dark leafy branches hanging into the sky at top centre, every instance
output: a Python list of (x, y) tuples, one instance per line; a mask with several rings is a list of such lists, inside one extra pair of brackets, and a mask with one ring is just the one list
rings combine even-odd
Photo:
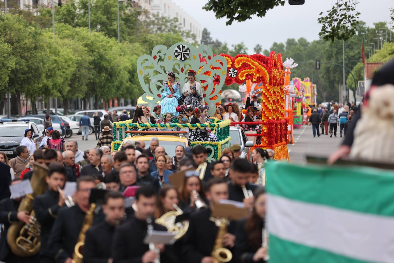
[(214, 11), (217, 19), (226, 17), (226, 25), (230, 25), (233, 21), (242, 22), (251, 19), (252, 15), (264, 17), (269, 9), (279, 5), (283, 6), (285, 2), (286, 1), (283, 0), (208, 0), (203, 9), (206, 11)]

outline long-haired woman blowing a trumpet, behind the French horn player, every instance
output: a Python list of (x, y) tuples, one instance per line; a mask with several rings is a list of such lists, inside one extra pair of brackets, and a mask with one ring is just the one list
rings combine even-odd
[[(195, 190), (195, 193), (193, 193), (193, 190)], [(185, 210), (187, 208), (191, 208), (192, 210), (196, 210), (197, 207), (195, 205), (196, 201), (196, 194), (197, 196), (200, 197), (200, 200), (203, 203), (208, 203), (208, 201), (204, 200), (204, 187), (203, 187), (203, 182), (200, 180), (197, 175), (192, 174), (190, 176), (185, 175), (185, 180), (182, 186), (182, 189), (180, 190), (180, 206), (182, 210)]]

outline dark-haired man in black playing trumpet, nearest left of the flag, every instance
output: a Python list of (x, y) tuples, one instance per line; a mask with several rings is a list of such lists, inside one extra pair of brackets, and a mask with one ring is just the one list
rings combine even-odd
[[(236, 159), (231, 163), (229, 175), (231, 181), (229, 181), (229, 200), (243, 202), (246, 207), (251, 207), (253, 203), (253, 194), (256, 189), (256, 185), (252, 185), (247, 182), (250, 162), (246, 159)], [(248, 193), (249, 192), (249, 193)]]

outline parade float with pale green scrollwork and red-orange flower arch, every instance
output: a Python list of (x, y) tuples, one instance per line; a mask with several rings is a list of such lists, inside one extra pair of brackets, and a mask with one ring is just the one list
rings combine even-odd
[[(251, 56), (240, 54), (233, 58), (228, 54), (214, 55), (212, 49), (206, 45), (198, 48), (185, 42), (176, 43), (170, 48), (158, 45), (153, 48), (151, 55), (145, 54), (137, 62), (139, 83), (145, 92), (142, 95), (143, 101), (153, 108), (161, 100), (163, 83), (167, 81), (167, 72), (173, 72), (176, 81), (183, 85), (188, 81), (189, 70), (195, 72), (196, 80), (201, 83), (204, 102), (209, 106), (210, 116), (214, 115), (216, 105), (221, 102), (221, 89), (224, 84), (243, 84), (247, 80), (253, 84), (261, 83), (262, 116), (261, 122), (257, 124), (262, 125), (262, 132), (256, 136), (262, 137), (262, 144), (254, 145), (254, 147), (273, 149), (275, 159), (288, 160), (288, 119), (284, 114), (284, 73), (281, 54), (272, 51), (269, 57), (261, 54)], [(189, 129), (209, 127), (217, 136), (217, 142), (191, 142), (191, 145), (202, 144), (215, 159), (219, 159), (221, 150), (230, 145), (230, 121), (217, 119), (210, 119), (210, 121), (211, 124), (137, 124), (132, 123), (132, 120), (115, 122), (113, 123), (112, 149), (117, 150), (127, 136), (127, 131), (136, 128), (160, 130), (175, 127), (188, 127)]]

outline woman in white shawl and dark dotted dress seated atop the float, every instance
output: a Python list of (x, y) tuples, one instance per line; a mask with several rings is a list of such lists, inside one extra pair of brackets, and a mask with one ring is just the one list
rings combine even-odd
[(196, 81), (194, 71), (189, 70), (189, 81), (185, 83), (182, 89), (184, 105), (191, 105), (193, 108), (202, 108), (204, 105), (204, 93), (201, 84)]

